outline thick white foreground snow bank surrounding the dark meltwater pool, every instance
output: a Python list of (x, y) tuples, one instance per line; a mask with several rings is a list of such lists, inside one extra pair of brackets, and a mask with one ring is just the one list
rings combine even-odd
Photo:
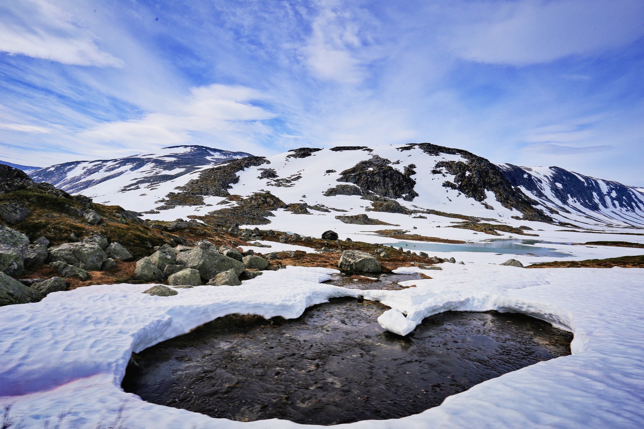
[(93, 428), (111, 421), (122, 405), (130, 428), (299, 426), (212, 419), (146, 403), (123, 392), (120, 381), (131, 352), (216, 317), (253, 313), (294, 318), (330, 297), (360, 294), (392, 307), (379, 322), (399, 333), (450, 309), (527, 313), (573, 331), (573, 355), (485, 381), (421, 414), (340, 426), (641, 427), (644, 269), (442, 268), (427, 271), (433, 278), (411, 280), (416, 286), (401, 291), (319, 284), (334, 270), (289, 267), (237, 287), (178, 289), (174, 297), (151, 297), (140, 293), (149, 285), (122, 284), (57, 292), (37, 304), (3, 307), (1, 402), (15, 403), (14, 415), (36, 428), (63, 410), (70, 411), (68, 424)]

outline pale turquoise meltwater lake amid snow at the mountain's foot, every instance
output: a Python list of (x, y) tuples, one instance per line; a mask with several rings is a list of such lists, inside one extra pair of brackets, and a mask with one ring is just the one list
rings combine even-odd
[(416, 251), (484, 251), (489, 253), (509, 253), (512, 255), (535, 255), (549, 257), (568, 257), (569, 253), (562, 253), (553, 248), (539, 247), (535, 244), (570, 244), (564, 242), (528, 240), (528, 239), (493, 239), (486, 242), (471, 242), (462, 244), (433, 243), (433, 242), (397, 242), (384, 243), (384, 246), (410, 249)]

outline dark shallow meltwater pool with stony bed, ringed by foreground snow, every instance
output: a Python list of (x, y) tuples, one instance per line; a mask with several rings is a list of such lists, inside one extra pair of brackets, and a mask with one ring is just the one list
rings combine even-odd
[[(383, 276), (379, 282), (409, 279)], [(528, 316), (447, 312), (401, 337), (377, 323), (386, 309), (336, 298), (293, 320), (226, 316), (133, 356), (122, 387), (212, 417), (338, 424), (417, 414), (487, 379), (570, 354), (571, 333)]]

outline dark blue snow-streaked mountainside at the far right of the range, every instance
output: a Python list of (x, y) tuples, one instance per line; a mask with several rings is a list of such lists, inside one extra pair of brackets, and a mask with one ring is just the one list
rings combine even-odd
[(552, 209), (555, 219), (592, 226), (644, 226), (641, 188), (583, 176), (560, 167), (498, 166), (509, 181)]

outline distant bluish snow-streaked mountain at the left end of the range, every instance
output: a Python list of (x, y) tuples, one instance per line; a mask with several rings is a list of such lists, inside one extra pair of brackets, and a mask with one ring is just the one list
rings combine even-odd
[[(164, 147), (158, 151), (115, 160), (74, 161), (39, 169), (29, 176), (35, 182), (48, 182), (70, 194), (84, 194), (98, 203), (153, 206), (152, 198), (142, 198), (146, 190), (169, 192), (189, 179), (187, 174), (214, 164), (251, 156), (198, 145)], [(144, 194), (143, 196), (141, 194)], [(154, 194), (154, 193), (153, 193)], [(156, 195), (155, 194), (155, 195)], [(165, 195), (165, 194), (164, 194)]]

